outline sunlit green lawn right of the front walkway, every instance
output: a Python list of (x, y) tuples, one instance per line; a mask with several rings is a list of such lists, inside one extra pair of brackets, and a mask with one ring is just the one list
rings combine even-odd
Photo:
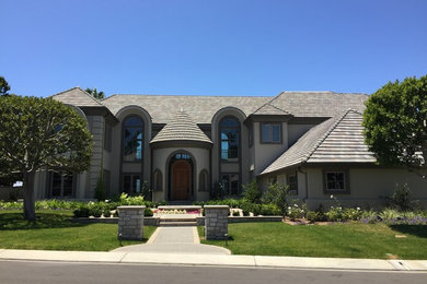
[(422, 225), (240, 223), (229, 224), (229, 238), (228, 246), (223, 240), (201, 244), (222, 246), (234, 255), (427, 259), (427, 226)]

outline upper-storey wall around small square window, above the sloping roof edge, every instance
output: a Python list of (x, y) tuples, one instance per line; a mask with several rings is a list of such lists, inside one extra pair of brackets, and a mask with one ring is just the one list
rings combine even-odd
[(282, 143), (261, 143), (261, 122), (254, 122), (254, 174), (263, 171), (288, 149), (288, 123), (281, 122)]

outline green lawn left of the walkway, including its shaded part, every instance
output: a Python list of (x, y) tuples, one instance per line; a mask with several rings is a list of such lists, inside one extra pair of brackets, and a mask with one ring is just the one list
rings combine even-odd
[[(19, 211), (0, 211), (0, 248), (108, 251), (119, 247), (117, 224), (79, 224), (71, 211), (37, 211), (37, 221), (26, 222)], [(155, 227), (143, 227), (145, 242)]]

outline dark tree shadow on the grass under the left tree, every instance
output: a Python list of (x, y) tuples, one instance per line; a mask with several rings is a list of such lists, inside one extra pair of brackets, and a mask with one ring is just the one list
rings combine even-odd
[(36, 221), (24, 220), (23, 213), (0, 213), (0, 232), (15, 229), (38, 229), (38, 228), (66, 228), (83, 227), (88, 224), (80, 224), (70, 221), (70, 216), (58, 213), (36, 213)]

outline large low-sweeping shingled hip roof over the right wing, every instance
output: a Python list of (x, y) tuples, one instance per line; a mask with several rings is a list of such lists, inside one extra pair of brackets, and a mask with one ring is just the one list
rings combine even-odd
[(310, 129), (261, 175), (301, 163), (374, 163), (363, 142), (362, 115), (348, 109)]

